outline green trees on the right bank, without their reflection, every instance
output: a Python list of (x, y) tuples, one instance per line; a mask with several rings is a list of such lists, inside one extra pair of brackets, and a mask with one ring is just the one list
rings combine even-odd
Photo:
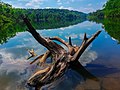
[(102, 10), (89, 13), (89, 19), (103, 19), (103, 18), (119, 18), (120, 17), (120, 0), (108, 0), (103, 5)]

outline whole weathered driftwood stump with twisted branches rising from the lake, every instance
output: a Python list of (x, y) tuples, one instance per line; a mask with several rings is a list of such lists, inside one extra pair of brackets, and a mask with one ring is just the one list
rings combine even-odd
[[(52, 63), (48, 67), (37, 71), (29, 78), (28, 85), (35, 87), (36, 90), (39, 90), (42, 86), (50, 84), (55, 80), (61, 78), (68, 69), (75, 70), (84, 78), (98, 80), (80, 64), (78, 59), (85, 51), (85, 49), (90, 45), (90, 43), (100, 34), (101, 31), (97, 31), (90, 38), (87, 38), (85, 33), (81, 46), (73, 46), (70, 37), (68, 43), (59, 37), (44, 38), (39, 33), (37, 33), (35, 28), (31, 25), (26, 17), (23, 17), (23, 20), (28, 27), (28, 31), (38, 41), (38, 43), (48, 49), (45, 54), (38, 56), (30, 64), (33, 64), (35, 62), (44, 64), (48, 57), (51, 57), (52, 59)], [(68, 50), (65, 50), (61, 45), (54, 42), (54, 40), (64, 44)]]

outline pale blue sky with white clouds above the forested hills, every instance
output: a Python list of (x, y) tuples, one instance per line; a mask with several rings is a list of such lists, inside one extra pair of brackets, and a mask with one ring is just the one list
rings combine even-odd
[(59, 8), (85, 13), (101, 9), (107, 0), (1, 0), (17, 8)]

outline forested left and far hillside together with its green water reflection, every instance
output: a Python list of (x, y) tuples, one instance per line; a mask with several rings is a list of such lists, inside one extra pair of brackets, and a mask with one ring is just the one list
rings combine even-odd
[(21, 9), (0, 1), (0, 43), (25, 30), (21, 15), (27, 16), (36, 29), (74, 25), (86, 20), (86, 14), (67, 9)]

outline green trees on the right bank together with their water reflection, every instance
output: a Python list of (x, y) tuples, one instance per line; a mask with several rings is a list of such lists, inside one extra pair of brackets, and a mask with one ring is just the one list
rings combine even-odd
[(103, 28), (120, 44), (120, 0), (108, 0), (102, 10), (89, 13), (88, 19), (102, 23)]

